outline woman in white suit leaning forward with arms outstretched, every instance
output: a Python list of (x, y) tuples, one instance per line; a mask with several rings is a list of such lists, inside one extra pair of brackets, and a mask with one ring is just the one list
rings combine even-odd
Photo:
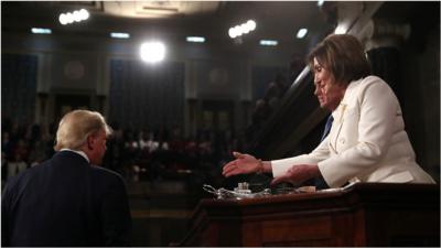
[(225, 176), (267, 172), (272, 183), (302, 183), (323, 176), (330, 187), (347, 182), (434, 183), (417, 163), (405, 131), (401, 108), (390, 87), (369, 76), (362, 44), (333, 34), (309, 54), (315, 96), (332, 111), (330, 134), (309, 154), (261, 161), (234, 152)]

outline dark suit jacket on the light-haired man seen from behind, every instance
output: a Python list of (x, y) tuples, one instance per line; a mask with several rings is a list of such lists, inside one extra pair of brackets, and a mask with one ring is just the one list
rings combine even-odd
[(122, 179), (72, 151), (13, 177), (1, 198), (2, 246), (127, 246)]

